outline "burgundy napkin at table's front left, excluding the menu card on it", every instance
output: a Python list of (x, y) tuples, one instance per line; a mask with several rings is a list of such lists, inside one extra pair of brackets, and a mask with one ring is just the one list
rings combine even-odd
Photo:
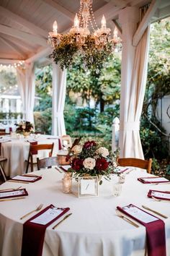
[(34, 218), (37, 218), (37, 216), (45, 213), (46, 210), (53, 207), (54, 205), (49, 205), (47, 208), (41, 210), (40, 213), (37, 213), (35, 216), (30, 218), (30, 220), (24, 223), (22, 234), (22, 256), (41, 256), (45, 237), (45, 230), (48, 226), (50, 226), (51, 223), (56, 221), (58, 218), (63, 216), (64, 213), (70, 210), (70, 208), (63, 208), (63, 212), (52, 221), (48, 222), (46, 225), (30, 222)]

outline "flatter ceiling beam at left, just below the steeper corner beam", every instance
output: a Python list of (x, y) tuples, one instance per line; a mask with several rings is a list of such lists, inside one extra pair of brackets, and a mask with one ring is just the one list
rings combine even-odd
[(32, 44), (38, 44), (40, 46), (47, 46), (47, 40), (44, 38), (40, 38), (38, 35), (32, 35), (29, 33), (25, 33), (23, 31), (17, 30), (13, 27), (6, 27), (4, 25), (0, 25), (1, 33), (5, 35), (12, 35), (14, 38), (20, 38), (22, 40), (26, 40)]

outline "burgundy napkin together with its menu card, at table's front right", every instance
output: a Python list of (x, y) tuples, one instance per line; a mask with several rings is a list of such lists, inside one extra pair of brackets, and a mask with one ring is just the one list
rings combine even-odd
[(146, 227), (148, 256), (166, 256), (164, 221), (132, 204), (117, 209)]

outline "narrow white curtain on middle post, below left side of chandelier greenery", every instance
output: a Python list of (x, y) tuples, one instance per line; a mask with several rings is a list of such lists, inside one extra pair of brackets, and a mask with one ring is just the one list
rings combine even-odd
[(53, 118), (52, 134), (57, 136), (66, 135), (63, 110), (66, 99), (66, 69), (61, 70), (53, 64)]

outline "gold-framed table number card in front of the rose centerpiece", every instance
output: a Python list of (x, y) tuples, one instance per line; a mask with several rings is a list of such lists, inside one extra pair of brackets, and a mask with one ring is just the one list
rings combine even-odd
[(97, 176), (79, 177), (79, 197), (98, 197), (99, 182)]

